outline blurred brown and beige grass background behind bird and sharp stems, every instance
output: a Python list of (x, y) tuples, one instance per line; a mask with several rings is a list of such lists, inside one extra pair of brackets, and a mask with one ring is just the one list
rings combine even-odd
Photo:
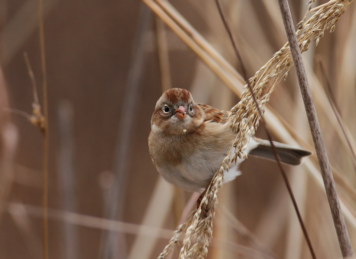
[[(170, 2), (240, 71), (214, 1)], [(287, 41), (277, 2), (221, 3), (253, 76)], [(289, 4), (297, 24), (308, 5), (305, 0)], [(4, 259), (42, 255), (43, 137), (25, 117), (11, 114), (9, 118), (4, 109), (32, 112), (24, 51), (42, 100), (37, 8), (35, 0), (0, 1), (0, 255)], [(351, 5), (335, 32), (325, 33), (317, 47), (311, 44), (303, 54), (312, 89), (322, 86), (315, 57), (322, 59), (354, 146), (355, 11)], [(186, 88), (196, 102), (226, 110), (238, 98), (140, 1), (45, 0), (44, 12), (49, 258), (156, 258), (191, 196), (163, 182), (149, 157), (150, 119), (162, 89)], [(165, 33), (159, 44), (157, 31)], [(162, 42), (167, 50), (163, 57), (159, 55)], [(313, 97), (329, 159), (338, 172), (339, 195), (355, 220), (355, 161), (325, 95), (314, 90)], [(277, 86), (269, 106), (300, 139), (312, 144), (293, 69)], [(15, 128), (8, 127), (10, 120)], [(259, 137), (265, 137), (262, 128)], [(341, 258), (325, 191), (305, 167), (286, 168), (317, 257)], [(276, 164), (249, 157), (241, 171), (219, 192), (208, 258), (311, 258)], [(356, 247), (356, 224), (346, 221)]]

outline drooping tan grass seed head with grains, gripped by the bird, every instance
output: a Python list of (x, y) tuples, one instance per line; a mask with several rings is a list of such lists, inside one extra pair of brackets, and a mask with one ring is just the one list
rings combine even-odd
[[(149, 0), (143, 1), (148, 3), (150, 7), (152, 6), (152, 2)], [(315, 41), (317, 44), (326, 29), (331, 28), (331, 31), (333, 31), (335, 23), (350, 3), (351, 1), (349, 0), (338, 0), (327, 7), (320, 8), (309, 20), (300, 23), (297, 35), (301, 51), (306, 51), (309, 43), (312, 41)], [(157, 8), (155, 11), (157, 11)], [(286, 43), (250, 79), (250, 84), (254, 87), (253, 92), (262, 112), (265, 111), (265, 106), (269, 101), (272, 90), (281, 79), (287, 77), (292, 65), (290, 48), (288, 43)], [(178, 227), (174, 237), (159, 256), (159, 259), (167, 257), (183, 231), (186, 231), (186, 233), (179, 253), (179, 259), (189, 259), (195, 256), (201, 259), (208, 252), (208, 245), (212, 238), (212, 220), (215, 215), (216, 204), (218, 203), (217, 192), (223, 182), (223, 172), (227, 171), (231, 163), (238, 158), (243, 160), (247, 157), (247, 144), (250, 137), (255, 135), (255, 130), (259, 125), (260, 115), (251, 92), (246, 90), (247, 86), (244, 88), (245, 91), (242, 93), (241, 101), (231, 109), (229, 114), (231, 129), (236, 132), (235, 141), (208, 186), (199, 208), (191, 214), (186, 223)], [(233, 147), (235, 147), (235, 150), (231, 154)], [(230, 159), (230, 155), (232, 155), (232, 159)]]

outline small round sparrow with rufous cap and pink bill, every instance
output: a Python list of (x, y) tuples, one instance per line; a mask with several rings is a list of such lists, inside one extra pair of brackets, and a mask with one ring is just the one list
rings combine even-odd
[[(172, 88), (162, 94), (152, 115), (148, 147), (153, 164), (166, 181), (186, 191), (204, 191), (236, 137), (228, 114), (195, 103), (185, 89)], [(303, 157), (312, 154), (306, 149), (273, 143), (280, 161), (286, 164), (299, 165)], [(268, 140), (251, 138), (247, 153), (275, 160)], [(238, 159), (224, 172), (224, 182), (241, 174), (241, 162)]]

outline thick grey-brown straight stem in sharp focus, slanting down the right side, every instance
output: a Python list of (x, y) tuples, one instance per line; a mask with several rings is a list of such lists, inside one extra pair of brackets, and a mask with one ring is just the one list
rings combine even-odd
[(339, 240), (342, 256), (353, 257), (350, 237), (346, 228), (345, 219), (342, 215), (339, 198), (337, 196), (335, 182), (331, 173), (329, 160), (326, 154), (324, 141), (321, 135), (320, 125), (316, 116), (315, 107), (312, 101), (312, 94), (309, 88), (301, 51), (295, 33), (292, 16), (287, 0), (278, 0), (281, 10), (284, 28), (287, 34), (291, 54), (297, 73), (298, 83), (302, 92), (304, 106), (306, 108), (309, 125), (312, 131), (312, 138), (315, 146), (316, 155), (320, 165), (321, 175), (324, 181), (326, 195), (329, 201), (331, 214), (333, 216), (336, 233)]

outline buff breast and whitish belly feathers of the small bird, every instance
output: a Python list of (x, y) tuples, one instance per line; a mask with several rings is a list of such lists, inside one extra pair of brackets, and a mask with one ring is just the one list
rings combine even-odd
[[(228, 134), (231, 136), (226, 137)], [(168, 182), (199, 192), (219, 169), (233, 139), (234, 134), (227, 124), (206, 122), (201, 132), (186, 135), (151, 132), (150, 153), (158, 172)], [(237, 167), (232, 167), (228, 174), (226, 180), (240, 173)]]

